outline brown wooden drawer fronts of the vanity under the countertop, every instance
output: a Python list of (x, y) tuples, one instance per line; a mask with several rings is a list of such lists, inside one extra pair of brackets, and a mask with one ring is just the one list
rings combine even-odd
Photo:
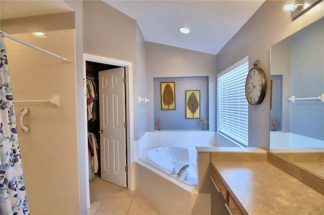
[(228, 192), (227, 188), (225, 187), (224, 183), (220, 179), (220, 177), (217, 175), (215, 170), (212, 170), (212, 176), (211, 176), (212, 182), (215, 185), (215, 188), (218, 192), (222, 194), (222, 196), (225, 199), (225, 206), (230, 214), (233, 215), (242, 215), (242, 211), (239, 209), (238, 205), (236, 204), (233, 197)]

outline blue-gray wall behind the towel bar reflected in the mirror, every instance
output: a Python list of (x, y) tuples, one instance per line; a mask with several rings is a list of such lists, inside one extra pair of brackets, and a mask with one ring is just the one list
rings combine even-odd
[[(292, 35), (291, 41), (291, 94), (318, 97), (324, 93), (324, 18)], [(290, 132), (324, 140), (323, 102), (291, 102), (290, 112)]]

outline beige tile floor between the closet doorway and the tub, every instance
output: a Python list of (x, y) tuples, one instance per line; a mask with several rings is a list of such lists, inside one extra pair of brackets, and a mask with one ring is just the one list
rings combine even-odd
[(88, 215), (159, 215), (141, 195), (95, 176), (90, 181), (90, 209)]

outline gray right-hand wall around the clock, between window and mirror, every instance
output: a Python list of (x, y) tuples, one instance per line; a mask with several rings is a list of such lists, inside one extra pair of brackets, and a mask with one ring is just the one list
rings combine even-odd
[[(259, 10), (240, 28), (217, 54), (217, 73), (249, 56), (249, 69), (260, 60), (267, 83), (270, 82), (270, 46), (323, 16), (324, 2), (292, 21), (282, 12), (283, 1), (265, 1)], [(249, 105), (249, 146), (269, 149), (270, 84), (263, 102)]]

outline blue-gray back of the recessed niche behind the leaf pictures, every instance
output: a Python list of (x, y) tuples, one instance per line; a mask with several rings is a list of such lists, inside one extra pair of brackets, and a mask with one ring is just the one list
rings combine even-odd
[[(160, 82), (175, 82), (176, 110), (161, 110)], [(154, 121), (161, 119), (161, 130), (202, 130), (199, 119), (186, 119), (186, 90), (200, 90), (200, 119), (209, 119), (208, 77), (154, 78)], [(155, 130), (158, 127), (155, 125)], [(208, 125), (205, 127), (208, 130)]]

